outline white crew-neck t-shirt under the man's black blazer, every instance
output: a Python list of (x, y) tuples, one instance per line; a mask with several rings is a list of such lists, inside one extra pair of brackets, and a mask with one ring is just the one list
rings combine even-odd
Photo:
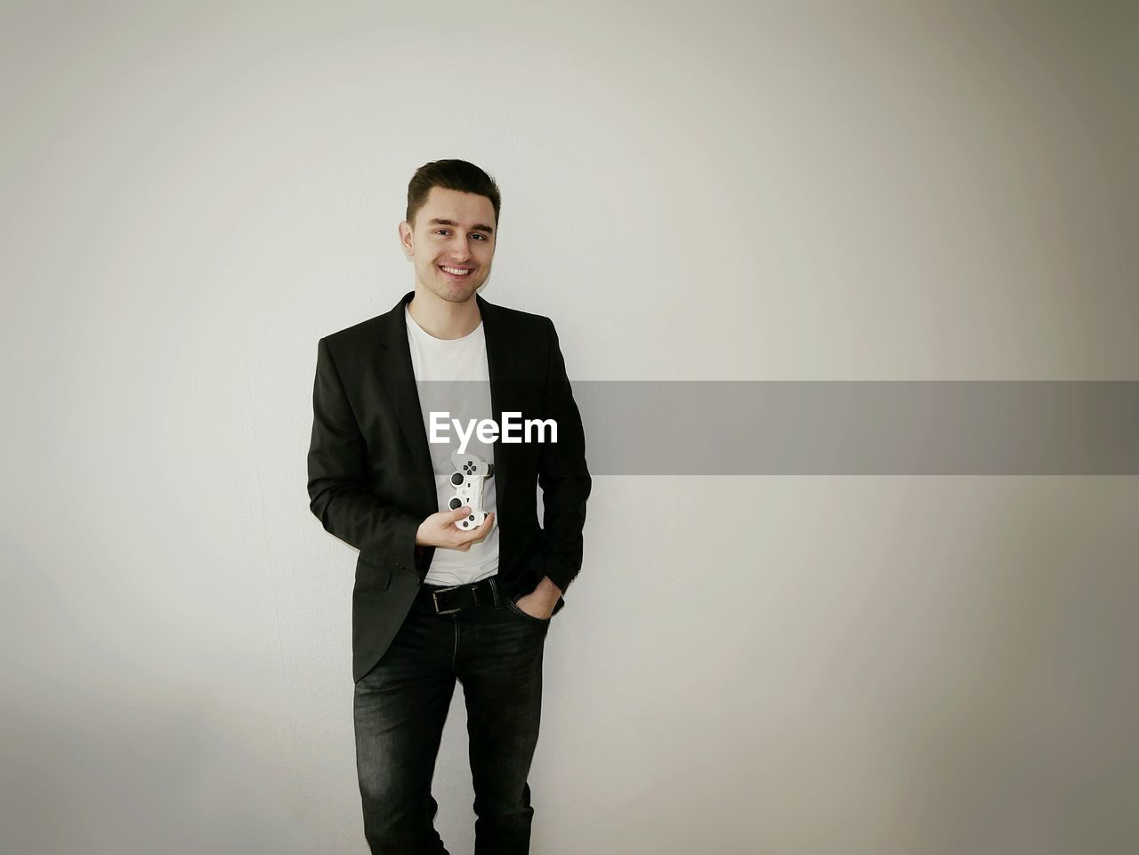
[[(491, 405), (490, 369), (486, 364), (486, 336), (480, 322), (475, 329), (462, 338), (435, 338), (426, 332), (411, 312), (404, 307), (408, 322), (408, 345), (411, 350), (411, 368), (416, 375), (416, 388), (419, 392), (419, 405), (423, 409), (424, 430), (427, 431), (427, 450), (431, 452), (432, 467), (435, 470), (435, 493), (439, 498), (439, 510), (450, 510), (448, 502), (454, 495), (451, 486), (451, 453), (459, 450), (459, 436), (450, 419), (458, 419), (464, 431), (470, 420), (476, 422), (494, 417)], [(448, 436), (450, 443), (433, 443), (431, 439), (431, 412), (449, 412), (446, 424), (450, 425)], [(487, 463), (494, 462), (494, 446), (478, 441), (477, 431), (470, 435), (466, 451), (477, 454)], [(483, 510), (497, 510), (494, 478), (487, 478), (483, 491)], [(469, 551), (457, 549), (435, 549), (431, 568), (424, 582), (432, 585), (465, 585), (477, 582), (486, 576), (498, 574), (498, 520), (495, 513), (494, 528)]]

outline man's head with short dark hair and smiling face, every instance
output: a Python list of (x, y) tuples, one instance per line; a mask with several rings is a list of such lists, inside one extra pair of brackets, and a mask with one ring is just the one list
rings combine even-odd
[(472, 163), (435, 161), (416, 171), (400, 241), (417, 290), (450, 303), (474, 296), (491, 272), (499, 206), (498, 186)]

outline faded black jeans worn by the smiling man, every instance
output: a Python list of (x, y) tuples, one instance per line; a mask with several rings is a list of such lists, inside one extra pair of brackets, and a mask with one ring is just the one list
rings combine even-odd
[(475, 855), (530, 852), (526, 776), (550, 622), (522, 611), (494, 582), (494, 602), (450, 615), (435, 614), (420, 594), (392, 647), (355, 684), (357, 771), (372, 855), (446, 855), (431, 784), (456, 679), (467, 704)]

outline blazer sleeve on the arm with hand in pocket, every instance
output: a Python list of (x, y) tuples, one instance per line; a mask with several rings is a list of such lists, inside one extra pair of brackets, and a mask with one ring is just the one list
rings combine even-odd
[(577, 576), (582, 562), (582, 528), (585, 500), (592, 479), (585, 465), (585, 434), (573, 398), (565, 360), (554, 322), (549, 324), (549, 373), (544, 410), (558, 426), (558, 441), (543, 443), (539, 455), (538, 485), (542, 488), (543, 572), (563, 593)]

